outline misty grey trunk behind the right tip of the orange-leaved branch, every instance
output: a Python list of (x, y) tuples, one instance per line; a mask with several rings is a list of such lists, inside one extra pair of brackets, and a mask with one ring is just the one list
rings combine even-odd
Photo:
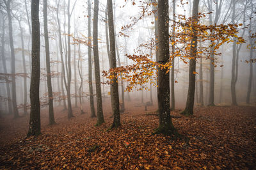
[[(232, 24), (235, 24), (236, 2), (232, 1)], [(237, 105), (236, 101), (236, 38), (232, 45), (233, 58), (232, 58), (232, 70), (231, 70), (231, 97), (232, 105)]]

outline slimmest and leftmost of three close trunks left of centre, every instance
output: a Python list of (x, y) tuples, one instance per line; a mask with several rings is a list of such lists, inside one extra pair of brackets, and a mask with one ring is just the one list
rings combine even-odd
[[(91, 37), (91, 1), (88, 0), (88, 37)], [(92, 41), (88, 40), (88, 73), (89, 73), (89, 94), (90, 94), (90, 108), (91, 108), (91, 118), (96, 117), (94, 100), (93, 100), (93, 86), (92, 86)]]

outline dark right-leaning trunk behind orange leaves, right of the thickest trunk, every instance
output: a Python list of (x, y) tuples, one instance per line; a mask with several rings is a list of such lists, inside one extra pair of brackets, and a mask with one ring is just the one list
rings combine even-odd
[[(193, 11), (192, 11), (192, 27), (196, 24), (198, 20), (198, 7), (199, 0), (193, 2)], [(195, 71), (196, 71), (196, 48), (197, 48), (197, 36), (196, 30), (193, 29), (193, 38), (191, 40), (191, 50), (189, 59), (189, 85), (188, 85), (188, 97), (186, 102), (186, 108), (182, 114), (189, 116), (193, 114), (194, 101), (195, 101)]]

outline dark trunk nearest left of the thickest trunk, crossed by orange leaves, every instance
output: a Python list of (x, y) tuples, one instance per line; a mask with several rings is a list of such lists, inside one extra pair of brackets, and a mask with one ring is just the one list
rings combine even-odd
[[(108, 0), (108, 22), (109, 22), (109, 43), (110, 43), (110, 68), (116, 68), (116, 54), (115, 54), (115, 29), (113, 20), (113, 4), (112, 0)], [(118, 95), (118, 79), (115, 74), (111, 80), (111, 88), (113, 93), (111, 94), (111, 105), (114, 114), (114, 121), (111, 128), (117, 128), (121, 125), (120, 123), (120, 110), (119, 110), (119, 95)], [(124, 102), (124, 101), (122, 101)]]

